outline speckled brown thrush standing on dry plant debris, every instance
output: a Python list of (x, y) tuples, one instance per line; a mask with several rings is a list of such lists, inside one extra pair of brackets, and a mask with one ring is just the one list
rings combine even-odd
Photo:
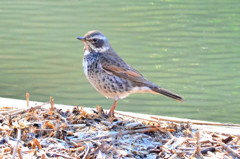
[(114, 117), (118, 100), (132, 93), (160, 94), (183, 102), (183, 97), (148, 81), (128, 65), (114, 51), (103, 33), (92, 30), (77, 39), (84, 44), (83, 69), (86, 78), (103, 96), (114, 100), (108, 117)]

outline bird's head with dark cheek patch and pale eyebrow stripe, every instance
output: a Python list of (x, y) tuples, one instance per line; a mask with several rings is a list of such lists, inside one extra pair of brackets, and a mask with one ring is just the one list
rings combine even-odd
[(83, 37), (77, 37), (84, 43), (84, 50), (95, 53), (105, 53), (111, 49), (107, 38), (99, 31), (89, 31)]

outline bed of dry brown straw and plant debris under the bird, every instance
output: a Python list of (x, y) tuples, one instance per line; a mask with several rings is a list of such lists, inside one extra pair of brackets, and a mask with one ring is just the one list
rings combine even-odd
[(0, 108), (0, 158), (240, 158), (239, 136), (193, 129), (191, 122), (117, 112), (109, 118), (100, 106), (64, 111), (52, 97), (50, 108), (43, 105)]

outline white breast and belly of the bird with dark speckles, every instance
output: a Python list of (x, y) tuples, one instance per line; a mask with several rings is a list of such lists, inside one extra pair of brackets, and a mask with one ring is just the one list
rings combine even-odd
[(131, 82), (103, 70), (100, 53), (84, 56), (84, 73), (92, 86), (107, 98), (124, 98), (130, 94)]

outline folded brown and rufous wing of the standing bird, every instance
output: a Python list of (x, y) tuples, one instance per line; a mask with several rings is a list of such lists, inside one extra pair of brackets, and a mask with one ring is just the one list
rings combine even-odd
[(139, 83), (148, 82), (138, 71), (126, 64), (117, 54), (102, 56), (100, 58), (100, 63), (105, 71), (113, 73), (121, 78)]

